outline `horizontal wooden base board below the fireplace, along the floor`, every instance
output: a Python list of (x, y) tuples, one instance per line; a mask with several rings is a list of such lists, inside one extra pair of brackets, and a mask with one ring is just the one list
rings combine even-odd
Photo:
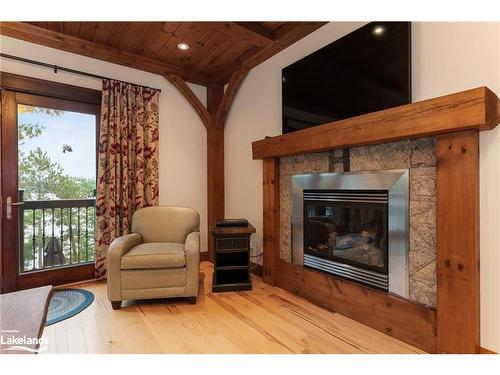
[(432, 309), (282, 260), (276, 285), (422, 350), (436, 350)]

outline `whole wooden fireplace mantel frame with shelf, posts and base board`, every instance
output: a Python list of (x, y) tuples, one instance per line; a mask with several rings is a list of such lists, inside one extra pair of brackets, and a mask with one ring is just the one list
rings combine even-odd
[[(263, 279), (431, 353), (480, 352), (479, 131), (500, 100), (479, 87), (252, 143), (263, 159)], [(279, 158), (436, 136), (436, 310), (279, 258)]]

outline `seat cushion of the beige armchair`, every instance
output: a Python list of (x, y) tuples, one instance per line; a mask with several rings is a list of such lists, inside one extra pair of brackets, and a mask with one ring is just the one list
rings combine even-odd
[(186, 266), (184, 244), (148, 242), (134, 246), (121, 258), (122, 270), (180, 268)]

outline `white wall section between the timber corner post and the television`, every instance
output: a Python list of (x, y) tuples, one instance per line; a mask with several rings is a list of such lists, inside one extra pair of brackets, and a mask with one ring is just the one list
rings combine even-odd
[(245, 217), (256, 228), (253, 253), (262, 250), (262, 161), (252, 160), (252, 141), (281, 134), (281, 69), (364, 22), (327, 24), (252, 69), (226, 121), (226, 217)]

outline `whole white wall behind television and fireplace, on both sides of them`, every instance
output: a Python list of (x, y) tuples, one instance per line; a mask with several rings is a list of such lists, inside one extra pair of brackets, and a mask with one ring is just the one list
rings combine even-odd
[[(281, 69), (364, 23), (329, 23), (254, 68), (226, 124), (226, 216), (246, 217), (262, 248), (262, 162), (251, 142), (281, 133)], [(414, 23), (413, 100), (486, 85), (500, 95), (500, 23)], [(481, 344), (500, 352), (500, 129), (481, 134)]]

